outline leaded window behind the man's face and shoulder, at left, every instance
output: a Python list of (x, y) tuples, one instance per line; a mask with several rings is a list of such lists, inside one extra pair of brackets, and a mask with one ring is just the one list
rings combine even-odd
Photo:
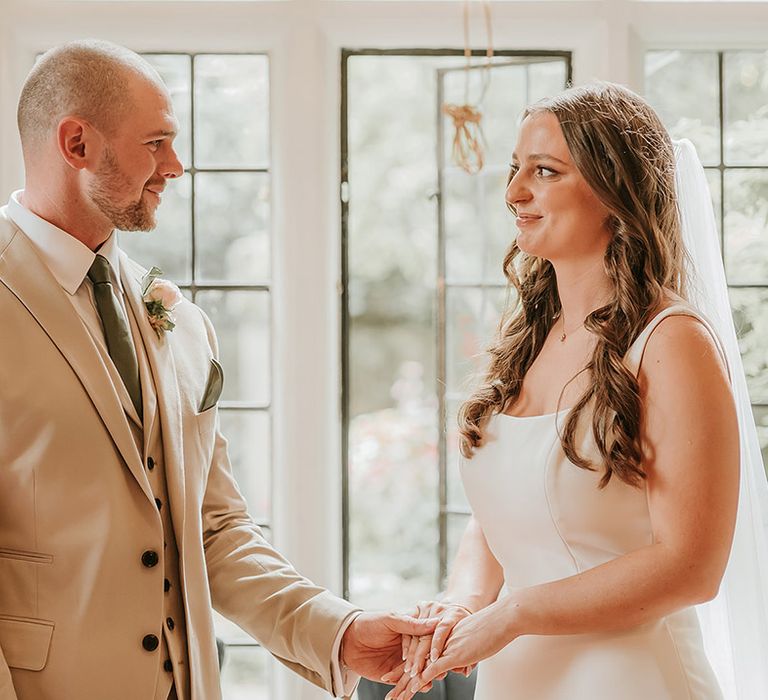
[[(270, 535), (271, 241), (268, 59), (255, 54), (145, 54), (171, 92), (184, 175), (157, 229), (120, 244), (157, 265), (213, 322), (226, 374), (221, 429), (251, 514)], [(267, 700), (269, 655), (217, 615), (228, 700)]]

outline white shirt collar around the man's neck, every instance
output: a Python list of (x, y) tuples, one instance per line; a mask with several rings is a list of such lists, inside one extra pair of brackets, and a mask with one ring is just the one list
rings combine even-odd
[[(39, 217), (21, 203), (22, 190), (11, 195), (8, 201), (8, 215), (32, 241), (46, 267), (56, 281), (70, 295), (83, 283), (93, 264), (95, 253), (73, 235)], [(120, 255), (115, 232), (109, 234), (98, 250), (108, 261), (112, 271), (112, 282), (122, 292), (120, 281)]]

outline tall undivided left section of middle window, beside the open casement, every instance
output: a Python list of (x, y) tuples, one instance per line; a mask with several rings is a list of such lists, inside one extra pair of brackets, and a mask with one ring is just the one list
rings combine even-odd
[(353, 56), (347, 64), (349, 588), (363, 606), (412, 605), (436, 592), (430, 195), (440, 60)]

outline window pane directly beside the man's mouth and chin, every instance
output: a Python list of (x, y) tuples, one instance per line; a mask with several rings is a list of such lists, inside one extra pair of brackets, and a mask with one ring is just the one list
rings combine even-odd
[(169, 182), (157, 209), (154, 231), (120, 233), (120, 247), (147, 268), (156, 265), (175, 282), (192, 279), (192, 178)]

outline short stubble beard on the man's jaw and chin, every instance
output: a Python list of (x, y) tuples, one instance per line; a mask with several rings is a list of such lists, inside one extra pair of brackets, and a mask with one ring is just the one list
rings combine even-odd
[(113, 201), (115, 192), (125, 192), (130, 186), (114, 151), (107, 147), (96, 171), (95, 184), (88, 191), (91, 201), (114, 228), (120, 231), (151, 231), (157, 225), (155, 208), (147, 204), (143, 195), (138, 201), (123, 206)]

